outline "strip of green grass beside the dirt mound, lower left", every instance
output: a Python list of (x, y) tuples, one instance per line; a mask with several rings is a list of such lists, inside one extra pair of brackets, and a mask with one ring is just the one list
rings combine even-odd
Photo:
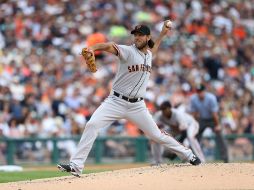
[[(98, 173), (106, 170), (86, 170), (83, 174)], [(69, 173), (60, 171), (23, 171), (23, 172), (0, 172), (0, 183), (14, 181), (30, 181), (34, 179), (70, 176)]]

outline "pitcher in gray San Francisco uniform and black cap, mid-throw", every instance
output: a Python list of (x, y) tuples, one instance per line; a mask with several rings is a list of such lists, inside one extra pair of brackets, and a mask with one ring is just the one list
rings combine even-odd
[(180, 159), (188, 161), (192, 165), (201, 163), (191, 149), (184, 147), (172, 136), (160, 131), (143, 99), (152, 72), (152, 56), (157, 52), (163, 37), (171, 29), (167, 23), (168, 21), (164, 22), (155, 42), (151, 39), (149, 27), (137, 25), (131, 31), (131, 34), (134, 35), (133, 45), (117, 45), (108, 42), (98, 43), (90, 47), (92, 51), (106, 51), (118, 56), (120, 60), (118, 71), (110, 95), (87, 122), (70, 163), (57, 165), (60, 170), (79, 177), (99, 130), (123, 118), (135, 123), (148, 138), (163, 144)]

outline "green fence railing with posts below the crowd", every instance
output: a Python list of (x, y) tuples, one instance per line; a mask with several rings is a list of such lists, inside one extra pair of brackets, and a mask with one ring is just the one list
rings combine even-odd
[[(211, 137), (205, 137), (207, 139), (214, 139), (214, 136)], [(237, 138), (247, 138), (250, 140), (252, 145), (254, 146), (254, 134), (243, 134), (243, 135), (236, 135), (236, 134), (231, 134), (231, 135), (226, 135), (225, 138), (227, 141), (230, 140), (235, 140)], [(5, 143), (6, 144), (6, 160), (7, 164), (15, 164), (15, 151), (16, 151), (16, 146), (21, 143), (25, 142), (48, 142), (51, 141), (53, 145), (53, 150), (52, 150), (52, 155), (51, 155), (51, 163), (55, 164), (58, 163), (59, 161), (59, 149), (57, 146), (57, 143), (60, 141), (66, 141), (66, 140), (74, 140), (74, 141), (79, 141), (80, 136), (73, 136), (73, 137), (54, 137), (54, 138), (19, 138), (19, 139), (14, 139), (14, 138), (0, 138), (0, 143)], [(102, 162), (102, 157), (103, 157), (103, 147), (104, 143), (107, 140), (115, 140), (115, 141), (130, 141), (134, 144), (135, 147), (135, 156), (134, 156), (134, 162), (145, 162), (147, 161), (147, 156), (148, 156), (148, 146), (149, 146), (149, 140), (144, 137), (144, 136), (139, 136), (139, 137), (122, 137), (122, 136), (107, 136), (107, 137), (98, 137), (95, 140), (94, 143), (94, 160), (95, 163), (101, 163)], [(219, 147), (217, 144), (215, 145), (215, 160), (219, 159)], [(252, 149), (252, 160), (254, 160), (254, 148)]]

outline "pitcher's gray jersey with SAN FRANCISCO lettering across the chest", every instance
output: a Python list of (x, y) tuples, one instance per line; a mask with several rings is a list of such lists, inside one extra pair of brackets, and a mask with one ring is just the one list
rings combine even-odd
[(135, 45), (114, 47), (120, 62), (112, 89), (129, 98), (144, 97), (152, 68), (151, 51), (144, 54)]

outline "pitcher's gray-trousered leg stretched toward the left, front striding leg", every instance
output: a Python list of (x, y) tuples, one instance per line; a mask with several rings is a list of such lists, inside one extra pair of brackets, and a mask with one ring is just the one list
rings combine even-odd
[[(124, 100), (123, 100), (124, 101)], [(123, 118), (126, 112), (126, 105), (121, 99), (108, 97), (94, 112), (91, 119), (87, 122), (83, 131), (77, 150), (70, 159), (70, 165), (77, 173), (81, 173), (84, 163), (93, 146), (93, 143), (103, 127), (107, 127), (115, 120)]]

